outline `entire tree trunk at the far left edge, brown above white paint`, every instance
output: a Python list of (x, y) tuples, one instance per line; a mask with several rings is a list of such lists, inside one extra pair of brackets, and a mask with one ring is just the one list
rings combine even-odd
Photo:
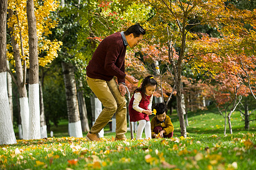
[(0, 145), (16, 143), (7, 94), (6, 67), (7, 1), (0, 0)]

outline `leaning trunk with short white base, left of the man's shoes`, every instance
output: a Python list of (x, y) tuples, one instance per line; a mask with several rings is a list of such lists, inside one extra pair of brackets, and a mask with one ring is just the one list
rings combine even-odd
[(67, 109), (68, 109), (68, 133), (71, 137), (82, 138), (82, 128), (77, 101), (76, 80), (73, 65), (61, 62), (65, 83)]

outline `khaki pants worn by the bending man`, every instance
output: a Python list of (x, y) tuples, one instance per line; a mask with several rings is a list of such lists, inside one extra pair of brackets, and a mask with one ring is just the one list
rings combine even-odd
[(90, 132), (99, 133), (115, 113), (115, 135), (117, 138), (124, 138), (127, 131), (126, 101), (125, 97), (121, 96), (115, 80), (112, 79), (106, 82), (105, 80), (93, 79), (86, 76), (86, 82), (104, 106)]

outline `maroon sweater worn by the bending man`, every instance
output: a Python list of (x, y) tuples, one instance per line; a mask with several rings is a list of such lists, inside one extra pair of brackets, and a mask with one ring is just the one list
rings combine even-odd
[(110, 81), (117, 76), (118, 83), (125, 83), (125, 53), (120, 32), (106, 37), (98, 45), (86, 67), (89, 78)]

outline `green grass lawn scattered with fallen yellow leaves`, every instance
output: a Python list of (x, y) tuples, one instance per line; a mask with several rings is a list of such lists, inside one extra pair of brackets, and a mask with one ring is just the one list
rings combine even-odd
[(180, 137), (174, 113), (174, 138), (131, 140), (127, 132), (127, 141), (113, 141), (115, 133), (105, 133), (101, 142), (67, 137), (67, 121), (62, 121), (52, 129), (53, 138), (1, 145), (0, 169), (255, 169), (255, 121), (250, 130), (243, 130), (244, 122), (235, 112), (233, 134), (227, 127), (224, 135), (220, 114), (200, 111), (188, 117), (187, 138)]

